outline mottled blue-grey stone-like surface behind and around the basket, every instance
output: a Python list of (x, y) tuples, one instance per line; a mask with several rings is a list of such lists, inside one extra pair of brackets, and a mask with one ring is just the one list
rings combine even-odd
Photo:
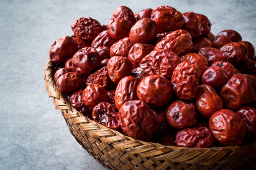
[(215, 35), (237, 30), (256, 46), (255, 0), (1, 0), (0, 170), (105, 169), (76, 142), (54, 109), (44, 89), (44, 65), (51, 43), (72, 35), (73, 20), (90, 16), (106, 24), (120, 5), (134, 13), (159, 5), (202, 13)]

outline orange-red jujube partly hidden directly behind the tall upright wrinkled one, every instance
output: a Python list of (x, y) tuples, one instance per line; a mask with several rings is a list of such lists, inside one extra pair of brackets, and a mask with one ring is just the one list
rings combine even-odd
[(187, 61), (187, 62), (191, 62), (195, 65), (197, 65), (197, 67), (199, 67), (201, 74), (208, 68), (208, 61), (207, 59), (200, 54), (196, 54), (196, 53), (187, 53), (186, 55), (182, 56), (180, 58), (181, 62)]

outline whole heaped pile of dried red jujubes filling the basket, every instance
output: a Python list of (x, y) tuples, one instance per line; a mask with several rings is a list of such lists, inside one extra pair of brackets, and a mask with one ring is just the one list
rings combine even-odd
[(164, 145), (256, 139), (256, 56), (238, 32), (215, 37), (205, 15), (166, 5), (120, 6), (108, 25), (84, 17), (71, 28), (49, 57), (59, 91), (84, 116)]

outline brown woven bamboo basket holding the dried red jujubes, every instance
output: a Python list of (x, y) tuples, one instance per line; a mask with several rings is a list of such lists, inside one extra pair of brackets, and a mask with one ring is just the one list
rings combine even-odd
[[(46, 91), (67, 122), (70, 132), (105, 168), (110, 170), (245, 169), (256, 160), (256, 141), (244, 146), (184, 148), (147, 143), (125, 136), (84, 117), (61, 95), (54, 82), (54, 65), (44, 68)], [(84, 167), (86, 169), (86, 167)]]

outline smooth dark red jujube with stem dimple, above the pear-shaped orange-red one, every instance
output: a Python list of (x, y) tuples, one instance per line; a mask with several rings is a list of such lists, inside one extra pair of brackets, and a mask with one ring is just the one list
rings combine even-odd
[(202, 74), (202, 83), (215, 89), (220, 89), (228, 80), (228, 72), (219, 66), (211, 66)]

